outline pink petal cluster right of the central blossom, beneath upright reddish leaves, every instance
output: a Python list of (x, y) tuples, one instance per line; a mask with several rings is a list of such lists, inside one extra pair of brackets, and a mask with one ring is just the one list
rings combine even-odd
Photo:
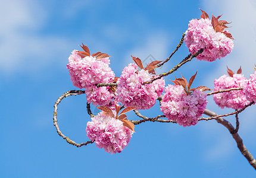
[(181, 85), (168, 85), (165, 91), (160, 106), (164, 115), (184, 127), (196, 125), (208, 103), (207, 94), (196, 89), (193, 95), (187, 95)]

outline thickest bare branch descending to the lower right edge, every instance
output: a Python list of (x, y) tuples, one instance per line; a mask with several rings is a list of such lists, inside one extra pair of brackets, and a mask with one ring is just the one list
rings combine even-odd
[[(204, 114), (211, 117), (220, 116), (208, 109), (205, 109)], [(242, 138), (239, 136), (237, 132), (235, 132), (236, 129), (232, 126), (232, 124), (227, 120), (223, 119), (222, 117), (217, 117), (216, 121), (222, 124), (223, 126), (225, 126), (229, 130), (230, 134), (232, 134), (233, 138), (235, 139), (236, 144), (238, 145), (238, 148), (243, 154), (243, 156), (249, 161), (249, 164), (251, 164), (251, 166), (254, 167), (254, 169), (256, 170), (256, 160), (251, 155), (251, 153), (247, 150), (247, 148), (243, 144)]]

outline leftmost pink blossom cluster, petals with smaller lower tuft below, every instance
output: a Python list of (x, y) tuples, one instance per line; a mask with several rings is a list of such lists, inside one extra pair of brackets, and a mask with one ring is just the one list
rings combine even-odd
[(113, 82), (115, 74), (109, 66), (110, 60), (93, 56), (81, 58), (77, 50), (73, 50), (68, 62), (71, 81), (75, 87), (85, 88), (87, 101), (95, 105), (108, 105), (114, 97), (110, 87), (97, 88), (95, 84)]

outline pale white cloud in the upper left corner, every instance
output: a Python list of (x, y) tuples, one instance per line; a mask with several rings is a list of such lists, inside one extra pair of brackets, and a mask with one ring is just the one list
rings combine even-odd
[[(0, 70), (3, 75), (35, 72), (67, 46), (64, 39), (38, 34), (46, 11), (36, 1), (5, 1), (0, 7)], [(54, 55), (55, 53), (55, 55)]]

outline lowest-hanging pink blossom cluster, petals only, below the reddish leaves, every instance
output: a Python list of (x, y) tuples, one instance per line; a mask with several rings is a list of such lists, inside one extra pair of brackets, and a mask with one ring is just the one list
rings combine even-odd
[(86, 134), (99, 148), (108, 153), (121, 152), (130, 142), (132, 130), (123, 125), (121, 120), (104, 115), (103, 112), (87, 123)]

